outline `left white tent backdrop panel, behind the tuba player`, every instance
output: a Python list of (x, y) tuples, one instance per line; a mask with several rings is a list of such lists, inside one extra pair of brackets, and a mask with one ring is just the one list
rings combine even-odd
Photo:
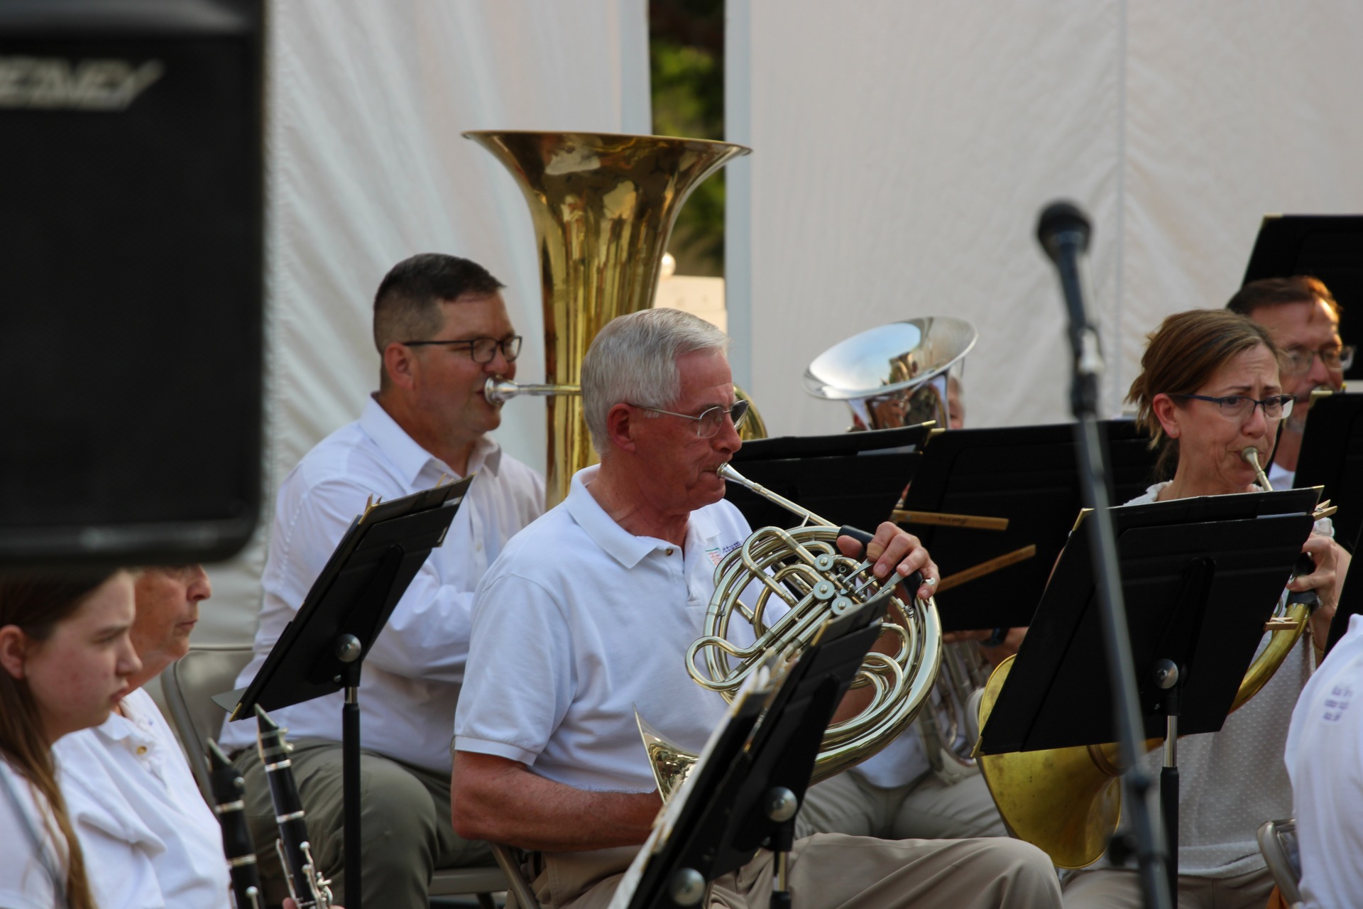
[[(255, 628), (279, 481), (378, 387), (373, 292), (416, 252), (451, 252), (508, 289), (522, 376), (544, 375), (534, 233), (519, 189), (465, 129), (649, 132), (643, 0), (279, 0), (267, 52), (264, 514), (210, 566), (199, 641)], [(544, 405), (497, 433), (544, 463)]]

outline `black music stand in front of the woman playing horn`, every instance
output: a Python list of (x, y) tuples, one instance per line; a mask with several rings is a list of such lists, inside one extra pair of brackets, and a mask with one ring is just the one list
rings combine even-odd
[[(1178, 735), (1225, 722), (1311, 530), (1318, 489), (1111, 510), (1145, 737), (1165, 739), (1160, 804), (1178, 879)], [(1116, 739), (1089, 534), (1075, 533), (980, 736), (980, 754)], [(988, 774), (985, 763), (984, 773)]]

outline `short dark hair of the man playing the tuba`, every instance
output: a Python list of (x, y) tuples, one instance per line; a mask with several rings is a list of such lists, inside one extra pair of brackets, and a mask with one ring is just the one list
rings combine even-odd
[[(442, 303), (465, 294), (488, 297), (504, 286), (487, 268), (459, 256), (421, 252), (403, 259), (383, 275), (373, 294), (373, 346), (382, 357), (394, 341), (431, 341), (443, 323)], [(387, 373), (383, 376), (386, 380)]]

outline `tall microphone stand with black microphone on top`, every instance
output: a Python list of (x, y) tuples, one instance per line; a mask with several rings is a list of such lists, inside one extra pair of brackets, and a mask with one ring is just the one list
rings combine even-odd
[[(1129, 770), (1122, 777), (1126, 803), (1130, 810), (1139, 864), (1141, 889), (1148, 909), (1169, 909), (1178, 893), (1178, 865), (1169, 861), (1169, 848), (1163, 842), (1159, 827), (1150, 816), (1150, 777), (1141, 769), (1138, 743), (1144, 741), (1144, 722), (1135, 684), (1135, 662), (1131, 657), (1131, 638), (1126, 624), (1126, 604), (1122, 598), (1122, 578), (1118, 571), (1116, 536), (1108, 514), (1107, 458), (1097, 425), (1099, 373), (1103, 354), (1099, 350), (1097, 330), (1088, 316), (1081, 256), (1088, 251), (1089, 222), (1075, 206), (1056, 202), (1047, 206), (1037, 224), (1037, 238), (1055, 263), (1060, 289), (1070, 313), (1070, 345), (1074, 350), (1074, 383), (1070, 405), (1074, 412), (1074, 440), (1079, 455), (1079, 482), (1084, 502), (1093, 510), (1088, 526), (1093, 551), (1093, 574), (1097, 579), (1097, 605), (1103, 624), (1103, 646), (1107, 651), (1108, 675), (1112, 685), (1114, 715), (1122, 748), (1122, 763)], [(1178, 846), (1174, 845), (1174, 849)], [(1161, 867), (1165, 874), (1160, 874)]]

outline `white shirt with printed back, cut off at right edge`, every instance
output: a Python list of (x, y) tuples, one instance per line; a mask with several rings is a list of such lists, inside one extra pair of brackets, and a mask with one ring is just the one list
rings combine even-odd
[(1355, 906), (1363, 894), (1363, 616), (1349, 617), (1348, 634), (1302, 690), (1285, 759), (1302, 897), (1315, 909)]

